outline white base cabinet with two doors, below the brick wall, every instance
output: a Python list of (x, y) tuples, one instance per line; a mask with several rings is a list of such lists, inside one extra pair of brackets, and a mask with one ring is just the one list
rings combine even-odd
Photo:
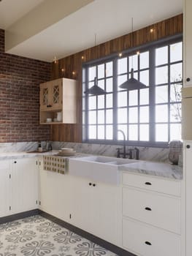
[(38, 208), (37, 159), (1, 160), (0, 217)]

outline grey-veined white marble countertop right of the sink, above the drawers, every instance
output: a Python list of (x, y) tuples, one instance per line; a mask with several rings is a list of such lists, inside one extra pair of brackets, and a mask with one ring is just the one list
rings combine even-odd
[(183, 167), (164, 162), (139, 161), (128, 165), (120, 165), (119, 170), (164, 178), (183, 178)]

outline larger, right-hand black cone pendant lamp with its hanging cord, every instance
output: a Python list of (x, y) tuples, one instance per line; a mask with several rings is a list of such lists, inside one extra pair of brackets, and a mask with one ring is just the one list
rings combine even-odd
[[(134, 45), (134, 37), (133, 37), (133, 18), (131, 18), (131, 27), (132, 27), (132, 46)], [(134, 68), (133, 68), (133, 56), (132, 58), (132, 67), (131, 67), (131, 78), (126, 80), (126, 82), (122, 83), (119, 87), (121, 89), (127, 89), (128, 91), (137, 90), (137, 89), (145, 89), (144, 83), (141, 83), (139, 80), (134, 78)]]

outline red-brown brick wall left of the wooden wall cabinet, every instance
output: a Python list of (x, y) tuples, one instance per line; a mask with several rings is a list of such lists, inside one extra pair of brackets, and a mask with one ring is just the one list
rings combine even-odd
[(51, 64), (4, 53), (0, 29), (0, 143), (50, 139), (39, 125), (39, 83), (50, 80)]

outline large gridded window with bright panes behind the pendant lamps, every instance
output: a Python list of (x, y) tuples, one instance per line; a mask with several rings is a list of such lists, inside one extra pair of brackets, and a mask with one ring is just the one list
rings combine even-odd
[[(93, 86), (95, 77), (107, 92), (82, 94), (84, 141), (118, 143), (123, 139), (118, 129), (125, 133), (128, 145), (165, 146), (181, 138), (182, 38), (139, 50), (84, 65), (83, 92)], [(134, 78), (146, 89), (120, 89), (132, 67)]]

